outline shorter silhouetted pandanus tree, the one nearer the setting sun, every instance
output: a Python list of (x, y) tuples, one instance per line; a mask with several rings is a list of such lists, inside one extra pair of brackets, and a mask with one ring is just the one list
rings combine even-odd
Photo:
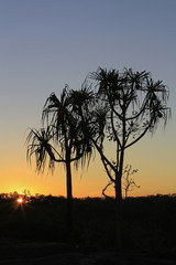
[[(72, 163), (78, 167), (91, 157), (91, 145), (81, 120), (73, 105), (69, 87), (66, 86), (58, 98), (54, 93), (46, 99), (42, 115), (43, 128), (31, 129), (26, 138), (28, 160), (34, 155), (37, 171), (44, 171), (46, 162), (54, 169), (56, 162), (66, 168), (67, 230), (68, 239), (73, 233), (73, 186)], [(48, 158), (48, 160), (47, 160)]]

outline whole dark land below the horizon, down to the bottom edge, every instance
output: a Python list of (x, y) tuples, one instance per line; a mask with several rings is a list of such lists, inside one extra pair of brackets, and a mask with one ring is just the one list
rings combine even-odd
[[(176, 198), (123, 201), (122, 264), (176, 264)], [(74, 199), (74, 243), (67, 242), (66, 200), (0, 200), (0, 264), (118, 264), (114, 201)]]

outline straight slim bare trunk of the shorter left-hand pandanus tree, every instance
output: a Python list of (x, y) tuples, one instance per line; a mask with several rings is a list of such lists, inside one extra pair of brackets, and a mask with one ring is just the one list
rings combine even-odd
[(67, 172), (67, 236), (68, 241), (73, 241), (73, 187), (72, 187), (72, 171), (70, 161), (66, 162)]

